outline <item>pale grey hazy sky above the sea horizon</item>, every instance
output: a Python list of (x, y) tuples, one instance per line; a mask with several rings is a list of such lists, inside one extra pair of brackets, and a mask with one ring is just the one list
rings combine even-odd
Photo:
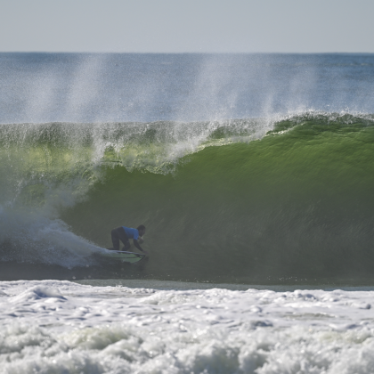
[(1, 52), (374, 53), (374, 0), (0, 0)]

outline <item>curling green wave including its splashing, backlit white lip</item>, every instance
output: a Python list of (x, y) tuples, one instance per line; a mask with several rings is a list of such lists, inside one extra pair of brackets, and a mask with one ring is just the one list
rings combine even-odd
[[(175, 124), (134, 125), (132, 138), (128, 125), (116, 133), (112, 124), (107, 138), (91, 127), (76, 146), (39, 137), (24, 147), (29, 171), (18, 173), (28, 182), (13, 199), (40, 212), (54, 193), (53, 214), (101, 247), (113, 227), (145, 224), (148, 277), (370, 277), (373, 118), (306, 113), (276, 121), (266, 135), (264, 124), (178, 125), (179, 138)], [(7, 154), (21, 148), (7, 144)], [(66, 204), (61, 191), (69, 191)]]

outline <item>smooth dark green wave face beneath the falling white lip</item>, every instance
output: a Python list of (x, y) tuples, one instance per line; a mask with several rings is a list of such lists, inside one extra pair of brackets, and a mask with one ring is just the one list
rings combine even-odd
[(64, 219), (102, 246), (112, 227), (146, 224), (158, 277), (370, 274), (373, 156), (370, 119), (294, 118), (259, 141), (185, 157), (172, 175), (105, 168)]

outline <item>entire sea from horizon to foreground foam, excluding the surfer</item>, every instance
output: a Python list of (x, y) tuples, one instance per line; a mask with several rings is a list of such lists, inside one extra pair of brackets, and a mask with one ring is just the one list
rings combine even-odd
[(372, 373), (373, 191), (374, 54), (0, 53), (0, 373)]

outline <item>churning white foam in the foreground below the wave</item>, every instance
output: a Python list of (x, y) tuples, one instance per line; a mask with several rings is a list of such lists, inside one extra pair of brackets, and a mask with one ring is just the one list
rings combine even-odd
[(372, 291), (0, 284), (2, 373), (369, 373)]

